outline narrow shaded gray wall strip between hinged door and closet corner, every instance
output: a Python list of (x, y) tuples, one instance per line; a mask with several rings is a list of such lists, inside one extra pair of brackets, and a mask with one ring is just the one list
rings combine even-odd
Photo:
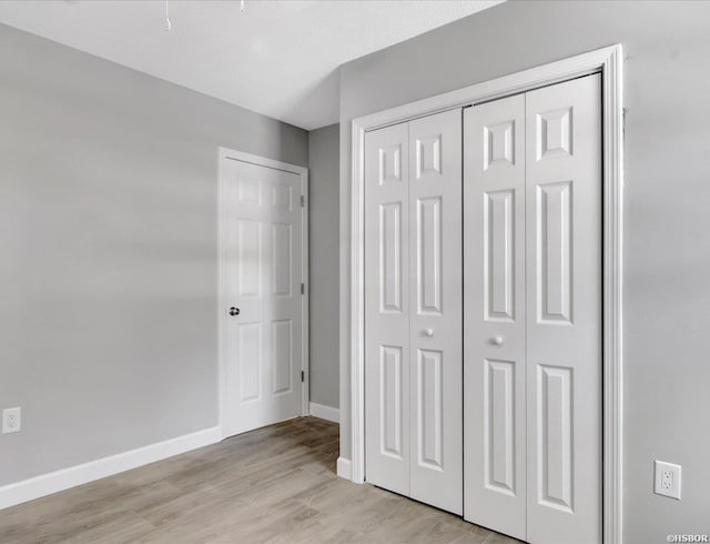
[(311, 402), (338, 407), (339, 128), (308, 133)]

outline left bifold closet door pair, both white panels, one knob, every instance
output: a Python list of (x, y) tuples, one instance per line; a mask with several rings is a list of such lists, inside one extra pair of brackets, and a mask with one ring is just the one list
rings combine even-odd
[(463, 512), (462, 112), (365, 137), (365, 477)]

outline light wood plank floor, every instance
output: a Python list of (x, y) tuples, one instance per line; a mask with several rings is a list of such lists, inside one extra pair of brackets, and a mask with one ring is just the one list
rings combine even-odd
[(0, 543), (517, 543), (335, 475), (338, 426), (315, 417), (0, 511)]

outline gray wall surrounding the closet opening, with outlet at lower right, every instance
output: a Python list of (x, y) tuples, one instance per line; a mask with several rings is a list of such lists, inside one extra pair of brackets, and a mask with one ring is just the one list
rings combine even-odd
[[(627, 544), (666, 542), (668, 533), (710, 534), (709, 21), (710, 2), (510, 2), (341, 71), (341, 198), (347, 210), (353, 118), (625, 46)], [(341, 220), (349, 232), (343, 228), (347, 213)], [(341, 376), (347, 422), (347, 360)], [(345, 424), (341, 431), (349, 457), (351, 430)], [(655, 459), (682, 465), (682, 501), (652, 494)]]

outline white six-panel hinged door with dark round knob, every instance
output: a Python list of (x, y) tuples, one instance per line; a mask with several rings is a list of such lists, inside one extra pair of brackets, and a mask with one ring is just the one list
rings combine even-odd
[(223, 159), (223, 426), (230, 435), (302, 413), (301, 194), (296, 173)]

